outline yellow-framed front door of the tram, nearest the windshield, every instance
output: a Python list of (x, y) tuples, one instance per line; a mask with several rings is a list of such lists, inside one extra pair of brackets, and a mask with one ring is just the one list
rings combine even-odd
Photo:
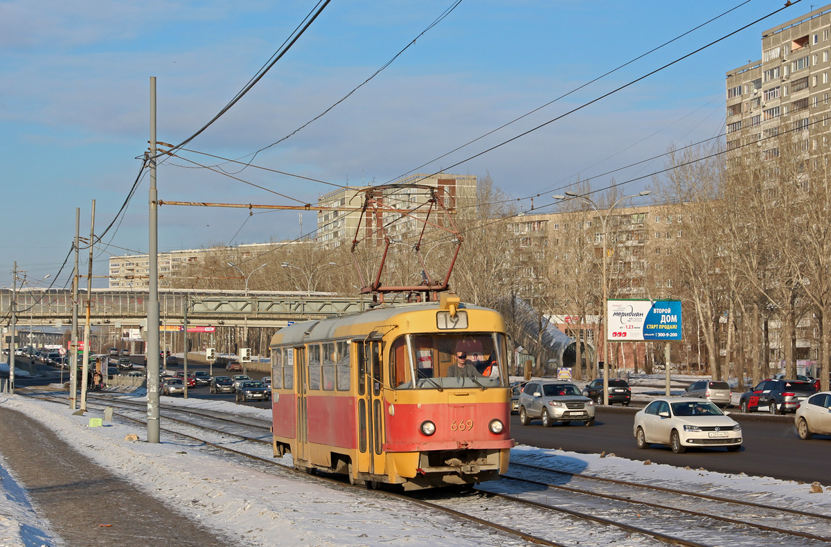
[(381, 341), (358, 344), (358, 448), (359, 471), (385, 473), (381, 446), (384, 442), (384, 378)]

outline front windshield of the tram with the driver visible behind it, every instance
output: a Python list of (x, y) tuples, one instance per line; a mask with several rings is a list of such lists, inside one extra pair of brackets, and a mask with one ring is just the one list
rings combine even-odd
[(392, 343), (390, 360), (396, 389), (508, 385), (501, 333), (407, 334)]

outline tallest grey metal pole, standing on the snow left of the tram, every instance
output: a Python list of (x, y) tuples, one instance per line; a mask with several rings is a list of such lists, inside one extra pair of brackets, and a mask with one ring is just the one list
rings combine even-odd
[(147, 302), (147, 442), (158, 443), (159, 423), (159, 193), (156, 190), (156, 94), (150, 76), (150, 261)]

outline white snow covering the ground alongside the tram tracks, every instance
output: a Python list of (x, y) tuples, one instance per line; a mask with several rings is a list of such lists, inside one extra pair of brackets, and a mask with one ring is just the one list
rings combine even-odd
[[(132, 397), (143, 400), (145, 393), (136, 391)], [(270, 416), (268, 409), (244, 407), (233, 402), (165, 397), (165, 403), (248, 413), (265, 419)], [(136, 489), (159, 497), (163, 503), (174, 506), (206, 529), (233, 537), (234, 545), (380, 547), (403, 541), (408, 545), (474, 547), (504, 545), (506, 541), (503, 536), (494, 536), (477, 526), (460, 526), (450, 516), (412, 519), (411, 505), (403, 500), (378, 498), (371, 493), (364, 495), (294, 476), (276, 476), (224, 461), (200, 451), (198, 443), (184, 437), (163, 432), (161, 442), (156, 444), (125, 441), (125, 436), (132, 433), (143, 441), (146, 432), (140, 426), (118, 422), (107, 422), (105, 427), (89, 427), (89, 419), (101, 417), (100, 411), (73, 416), (66, 404), (5, 393), (0, 394), (0, 405), (42, 421), (98, 465), (124, 477)], [(264, 446), (260, 456), (272, 457), (271, 447)], [(290, 455), (283, 457), (285, 463), (290, 462)], [(671, 483), (676, 488), (708, 495), (752, 498), (757, 503), (829, 514), (827, 491), (811, 494), (810, 485), (795, 481), (657, 464), (645, 466), (642, 461), (613, 454), (602, 457), (533, 446), (516, 446), (511, 451), (511, 460), (638, 484), (666, 486)], [(823, 486), (827, 490), (828, 485)], [(499, 482), (482, 487), (495, 491), (509, 488)], [(194, 503), (194, 500), (198, 502)], [(553, 521), (547, 516), (541, 518), (546, 520), (540, 526), (550, 530)], [(370, 525), (371, 529), (368, 528)], [(111, 530), (118, 533), (116, 529)], [(606, 527), (598, 526), (593, 530), (593, 539), (602, 543), (603, 534), (611, 533)], [(42, 512), (28, 499), (26, 485), (16, 480), (7, 463), (0, 458), (0, 545), (61, 545), (59, 539), (58, 531), (53, 530)], [(557, 540), (566, 544), (585, 543), (586, 537), (580, 526), (571, 525), (558, 532)]]

